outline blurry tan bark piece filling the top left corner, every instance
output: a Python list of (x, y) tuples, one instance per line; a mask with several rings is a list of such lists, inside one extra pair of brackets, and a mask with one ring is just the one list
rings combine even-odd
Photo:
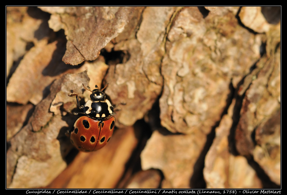
[(32, 46), (42, 39), (53, 37), (54, 32), (48, 26), (49, 14), (36, 7), (6, 7), (6, 19), (8, 75), (10, 70), (10, 74), (15, 71), (15, 64), (19, 63)]

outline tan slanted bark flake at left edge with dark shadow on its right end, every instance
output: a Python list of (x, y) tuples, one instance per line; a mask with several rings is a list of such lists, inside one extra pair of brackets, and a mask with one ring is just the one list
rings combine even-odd
[(46, 87), (71, 68), (61, 61), (64, 51), (61, 41), (47, 43), (47, 40), (30, 49), (9, 80), (7, 102), (36, 105), (47, 96)]

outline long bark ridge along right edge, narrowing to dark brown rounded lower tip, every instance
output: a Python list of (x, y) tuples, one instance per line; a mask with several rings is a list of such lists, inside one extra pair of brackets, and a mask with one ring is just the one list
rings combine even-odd
[(252, 138), (254, 131), (261, 123), (272, 118), (281, 107), (280, 63), (278, 24), (267, 33), (266, 55), (259, 60), (257, 68), (245, 78), (239, 89), (239, 94), (245, 92), (239, 123), (235, 130), (236, 149), (241, 155), (252, 155), (257, 144)]

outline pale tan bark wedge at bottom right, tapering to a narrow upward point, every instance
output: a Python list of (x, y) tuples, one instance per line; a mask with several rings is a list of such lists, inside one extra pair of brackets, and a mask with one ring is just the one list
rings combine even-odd
[(262, 188), (256, 171), (243, 156), (230, 153), (229, 136), (233, 124), (235, 99), (215, 129), (215, 138), (204, 163), (204, 180), (207, 188)]

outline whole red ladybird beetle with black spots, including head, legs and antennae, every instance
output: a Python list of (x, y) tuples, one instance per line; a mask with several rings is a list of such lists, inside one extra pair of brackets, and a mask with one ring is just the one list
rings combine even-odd
[[(108, 84), (107, 84), (108, 85)], [(107, 86), (106, 85), (106, 86)], [(84, 115), (77, 119), (72, 129), (67, 132), (70, 134), (71, 143), (80, 151), (96, 151), (105, 146), (113, 135), (115, 127), (114, 109), (111, 102), (106, 99), (103, 89), (91, 91), (90, 87), (83, 84), (84, 88), (90, 91), (90, 99), (85, 105), (80, 106), (77, 93), (68, 94), (76, 96), (78, 107), (83, 113), (74, 113), (75, 115)]]

